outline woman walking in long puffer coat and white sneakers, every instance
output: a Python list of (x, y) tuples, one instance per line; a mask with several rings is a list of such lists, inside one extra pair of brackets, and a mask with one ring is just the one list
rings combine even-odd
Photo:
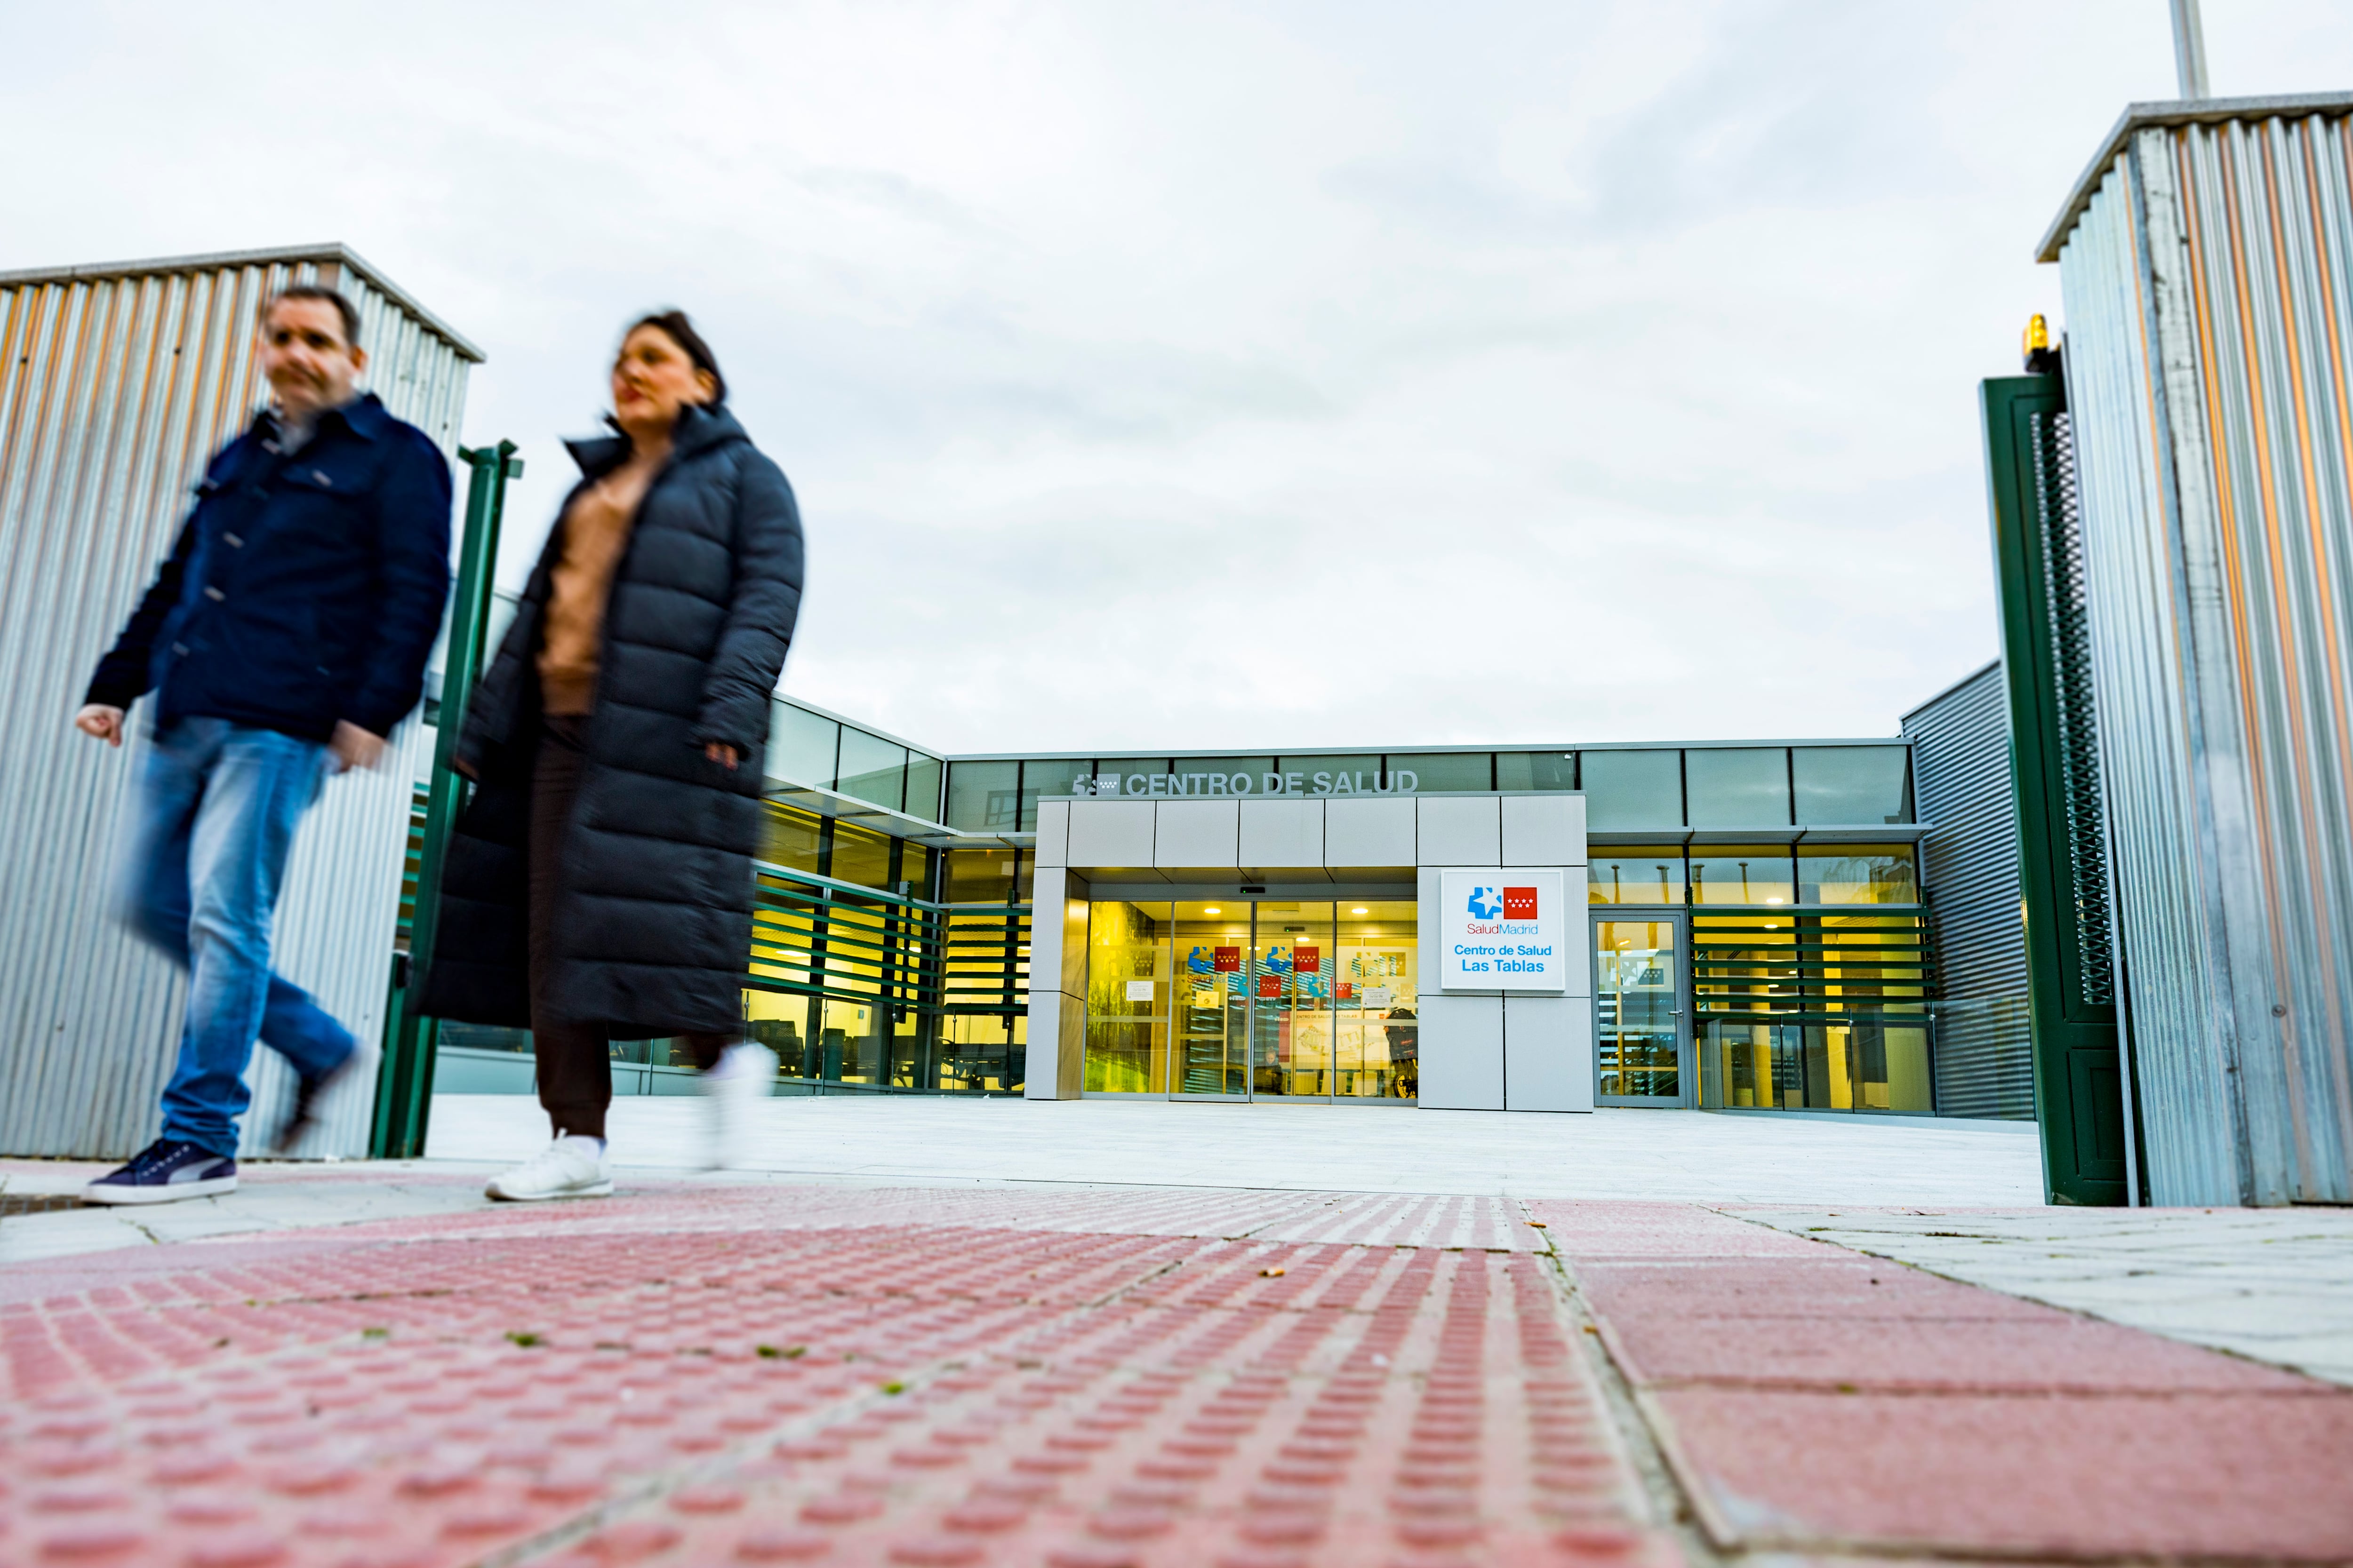
[(572, 442), (565, 498), (456, 766), (419, 1011), (532, 1030), (555, 1140), (489, 1182), (605, 1197), (614, 1039), (680, 1039), (713, 1157), (776, 1058), (741, 1044), (769, 693), (800, 609), (793, 487), (727, 411), (711, 346), (647, 315), (612, 367), (616, 435)]

